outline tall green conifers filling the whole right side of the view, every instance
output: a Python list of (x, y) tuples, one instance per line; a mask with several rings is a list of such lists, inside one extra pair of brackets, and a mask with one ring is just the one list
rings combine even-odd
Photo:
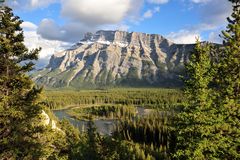
[(240, 2), (231, 2), (223, 47), (198, 42), (186, 67), (187, 101), (175, 125), (177, 159), (240, 158)]

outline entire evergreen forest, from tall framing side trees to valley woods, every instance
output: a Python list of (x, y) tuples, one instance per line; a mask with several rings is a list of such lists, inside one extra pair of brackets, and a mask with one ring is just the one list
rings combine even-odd
[[(166, 89), (42, 93), (27, 75), (40, 49), (27, 49), (23, 21), (1, 6), (0, 159), (240, 159), (240, 2), (230, 2), (223, 46), (197, 41), (184, 96)], [(51, 112), (68, 105), (87, 117), (86, 132)], [(154, 112), (136, 117), (136, 106)], [(94, 116), (118, 116), (117, 129), (100, 135)]]

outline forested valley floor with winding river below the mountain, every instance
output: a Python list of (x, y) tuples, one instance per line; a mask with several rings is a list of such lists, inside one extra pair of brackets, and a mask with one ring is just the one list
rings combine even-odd
[(98, 145), (110, 136), (111, 140), (104, 142), (106, 148), (120, 143), (128, 154), (142, 160), (168, 159), (167, 152), (174, 143), (171, 119), (184, 102), (180, 90), (162, 88), (50, 90), (44, 95), (59, 123), (67, 119), (85, 137), (95, 128), (94, 134), (102, 139)]

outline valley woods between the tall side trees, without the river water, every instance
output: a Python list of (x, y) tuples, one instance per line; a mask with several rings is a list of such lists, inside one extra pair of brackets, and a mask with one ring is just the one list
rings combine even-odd
[(173, 115), (170, 114), (171, 112), (159, 111), (147, 117), (137, 118), (135, 106), (172, 110), (183, 101), (183, 96), (178, 90), (128, 88), (46, 91), (45, 95), (47, 100), (51, 99), (53, 103), (51, 106), (57, 104), (69, 106), (68, 113), (77, 119), (121, 119), (122, 125), (118, 125), (113, 137), (99, 135), (93, 123), (89, 122), (91, 127), (87, 132), (81, 132), (80, 140), (76, 140), (77, 146), (73, 145), (74, 150), (79, 151), (75, 154), (78, 159), (169, 158), (171, 146), (174, 145), (172, 144), (174, 138), (171, 138), (173, 135), (169, 128)]

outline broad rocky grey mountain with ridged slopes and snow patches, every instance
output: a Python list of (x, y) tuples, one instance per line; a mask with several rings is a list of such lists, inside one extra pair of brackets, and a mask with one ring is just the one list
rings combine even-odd
[(32, 76), (46, 87), (177, 86), (193, 48), (157, 34), (101, 30), (52, 55)]

